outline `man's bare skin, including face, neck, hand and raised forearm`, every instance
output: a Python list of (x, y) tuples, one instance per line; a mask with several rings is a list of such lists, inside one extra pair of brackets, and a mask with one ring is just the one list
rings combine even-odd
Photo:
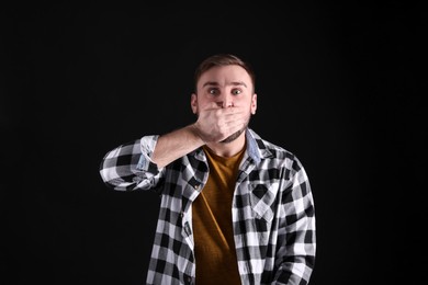
[(159, 137), (151, 156), (159, 167), (206, 145), (216, 155), (230, 157), (245, 146), (245, 129), (257, 110), (257, 94), (240, 66), (205, 71), (191, 94), (196, 122)]

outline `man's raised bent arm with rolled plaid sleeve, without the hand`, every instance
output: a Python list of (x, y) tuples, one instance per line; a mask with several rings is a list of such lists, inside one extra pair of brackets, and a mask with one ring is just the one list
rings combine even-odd
[(202, 145), (194, 125), (161, 136), (145, 136), (109, 151), (101, 161), (100, 175), (117, 191), (154, 189), (166, 166)]

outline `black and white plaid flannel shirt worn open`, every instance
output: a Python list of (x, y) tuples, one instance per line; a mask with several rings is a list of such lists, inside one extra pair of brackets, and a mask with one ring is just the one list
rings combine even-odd
[[(315, 263), (315, 208), (306, 172), (290, 151), (247, 129), (233, 198), (233, 229), (243, 284), (308, 284)], [(192, 202), (209, 166), (202, 148), (158, 169), (158, 135), (109, 151), (103, 181), (117, 191), (154, 190), (160, 209), (147, 284), (194, 284)]]

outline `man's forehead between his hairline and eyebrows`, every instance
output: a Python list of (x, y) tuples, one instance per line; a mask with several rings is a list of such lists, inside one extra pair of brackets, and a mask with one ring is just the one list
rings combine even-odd
[(207, 82), (226, 86), (234, 82), (244, 82), (247, 87), (251, 87), (251, 78), (240, 66), (218, 66), (213, 67), (202, 73), (198, 81), (198, 87), (203, 87)]

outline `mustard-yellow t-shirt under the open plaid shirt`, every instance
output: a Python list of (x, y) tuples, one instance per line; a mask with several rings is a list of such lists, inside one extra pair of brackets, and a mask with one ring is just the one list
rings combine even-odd
[(232, 228), (232, 200), (245, 148), (229, 158), (216, 156), (207, 147), (204, 150), (210, 176), (192, 206), (195, 283), (241, 284)]

